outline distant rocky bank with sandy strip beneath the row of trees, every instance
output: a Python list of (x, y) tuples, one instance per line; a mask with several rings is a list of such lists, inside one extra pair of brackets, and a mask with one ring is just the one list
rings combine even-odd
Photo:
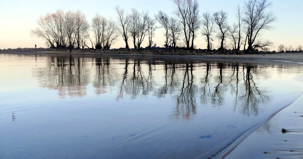
[[(67, 54), (69, 50), (58, 48), (17, 48), (0, 49), (0, 53), (7, 54)], [(148, 48), (148, 49), (74, 49), (72, 55), (121, 55), (121, 56), (162, 56), (203, 59), (241, 59), (241, 60), (278, 60), (303, 62), (303, 51), (241, 51), (241, 50), (183, 50), (182, 48)]]

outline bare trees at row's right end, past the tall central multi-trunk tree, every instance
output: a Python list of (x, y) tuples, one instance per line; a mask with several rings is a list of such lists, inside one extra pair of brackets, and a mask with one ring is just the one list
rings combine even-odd
[[(271, 41), (263, 41), (260, 38), (260, 32), (263, 30), (271, 30), (272, 22), (276, 20), (271, 12), (267, 12), (271, 5), (267, 0), (248, 0), (244, 7), (240, 5), (236, 8), (237, 22), (232, 26), (228, 25), (228, 13), (223, 10), (215, 12), (213, 17), (209, 12), (202, 15), (201, 30), (202, 35), (206, 36), (208, 43), (207, 48), (211, 49), (213, 41), (213, 33), (215, 33), (215, 26), (217, 26), (217, 38), (220, 39), (221, 49), (226, 48), (225, 38), (229, 37), (233, 49), (240, 50), (244, 43), (244, 50), (246, 49), (267, 49), (273, 43)], [(246, 38), (244, 39), (243, 37)]]

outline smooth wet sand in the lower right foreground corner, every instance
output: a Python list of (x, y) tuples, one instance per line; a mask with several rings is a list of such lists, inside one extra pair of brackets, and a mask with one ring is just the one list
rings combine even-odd
[(251, 133), (226, 158), (303, 158), (302, 103), (303, 95)]

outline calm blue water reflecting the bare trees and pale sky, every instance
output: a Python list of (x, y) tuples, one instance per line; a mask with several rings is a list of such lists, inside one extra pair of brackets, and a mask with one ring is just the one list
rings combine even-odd
[(298, 98), (302, 68), (0, 54), (0, 158), (215, 158)]

